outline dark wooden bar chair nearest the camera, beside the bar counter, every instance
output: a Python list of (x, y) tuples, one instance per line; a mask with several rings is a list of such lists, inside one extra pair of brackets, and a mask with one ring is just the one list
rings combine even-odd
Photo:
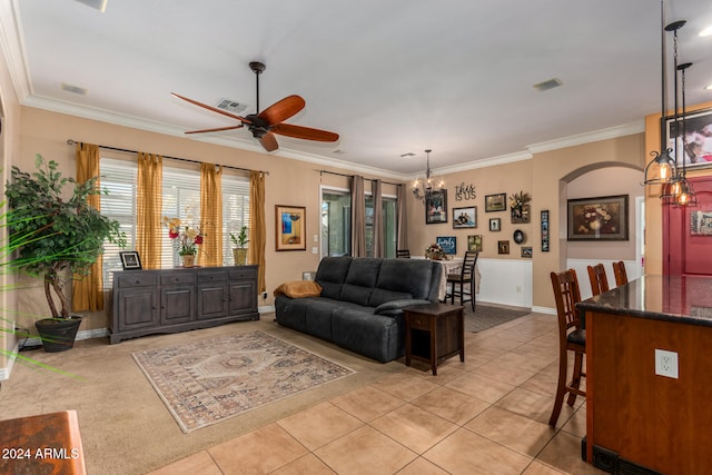
[[(581, 301), (581, 290), (578, 279), (574, 269), (563, 273), (551, 273), (552, 287), (556, 299), (556, 314), (558, 316), (558, 383), (556, 385), (556, 398), (554, 409), (548, 419), (548, 425), (556, 427), (556, 420), (564, 404), (564, 396), (568, 394), (566, 404), (573, 406), (576, 396), (586, 395), (580, 388), (581, 378), (585, 377), (583, 372), (583, 358), (586, 354), (586, 330), (582, 328), (576, 303)], [(568, 373), (568, 352), (574, 353), (574, 367), (572, 379), (566, 384)]]

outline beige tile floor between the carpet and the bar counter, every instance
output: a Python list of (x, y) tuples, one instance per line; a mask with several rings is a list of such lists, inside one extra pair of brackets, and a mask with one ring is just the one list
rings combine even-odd
[(202, 474), (594, 474), (581, 461), (585, 403), (547, 425), (556, 317), (467, 334), (465, 363), (376, 383), (152, 472)]

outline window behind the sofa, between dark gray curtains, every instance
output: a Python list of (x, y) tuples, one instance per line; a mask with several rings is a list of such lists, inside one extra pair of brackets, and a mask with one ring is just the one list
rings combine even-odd
[[(383, 197), (384, 257), (396, 255), (397, 200)], [(373, 256), (374, 201), (366, 195), (366, 255)], [(347, 190), (322, 190), (322, 256), (352, 254), (352, 196)]]

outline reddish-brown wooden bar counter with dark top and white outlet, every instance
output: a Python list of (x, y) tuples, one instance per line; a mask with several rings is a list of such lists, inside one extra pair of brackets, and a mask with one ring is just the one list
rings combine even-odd
[[(712, 278), (645, 276), (577, 304), (586, 459), (609, 473), (712, 471)], [(678, 377), (670, 374), (676, 367)]]

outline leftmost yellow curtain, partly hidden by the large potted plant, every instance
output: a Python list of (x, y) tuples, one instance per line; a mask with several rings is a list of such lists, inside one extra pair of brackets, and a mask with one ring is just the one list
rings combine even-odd
[[(99, 146), (93, 144), (77, 144), (77, 182), (83, 184), (92, 177), (99, 176)], [(99, 181), (97, 180), (97, 186)], [(89, 196), (89, 205), (101, 209), (99, 195)], [(101, 274), (101, 256), (89, 269), (89, 275), (76, 275), (71, 286), (72, 311), (103, 309), (103, 278)]]

